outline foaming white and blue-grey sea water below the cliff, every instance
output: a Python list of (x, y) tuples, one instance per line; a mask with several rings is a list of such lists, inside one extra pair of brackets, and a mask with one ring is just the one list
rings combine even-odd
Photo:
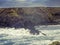
[(30, 34), (29, 29), (0, 28), (0, 45), (48, 45), (60, 41), (60, 25), (35, 26), (46, 35)]

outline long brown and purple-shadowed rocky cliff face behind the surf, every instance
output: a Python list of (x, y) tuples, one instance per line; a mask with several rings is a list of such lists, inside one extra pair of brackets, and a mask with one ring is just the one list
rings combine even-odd
[[(1, 27), (28, 27), (52, 24), (60, 14), (60, 8), (0, 8)], [(58, 16), (57, 16), (58, 15)], [(53, 23), (55, 24), (55, 23)], [(56, 23), (57, 24), (57, 23)]]

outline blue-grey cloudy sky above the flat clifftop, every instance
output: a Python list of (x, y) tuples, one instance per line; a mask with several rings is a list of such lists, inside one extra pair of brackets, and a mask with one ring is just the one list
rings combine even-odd
[(60, 7), (60, 0), (0, 0), (4, 7)]

